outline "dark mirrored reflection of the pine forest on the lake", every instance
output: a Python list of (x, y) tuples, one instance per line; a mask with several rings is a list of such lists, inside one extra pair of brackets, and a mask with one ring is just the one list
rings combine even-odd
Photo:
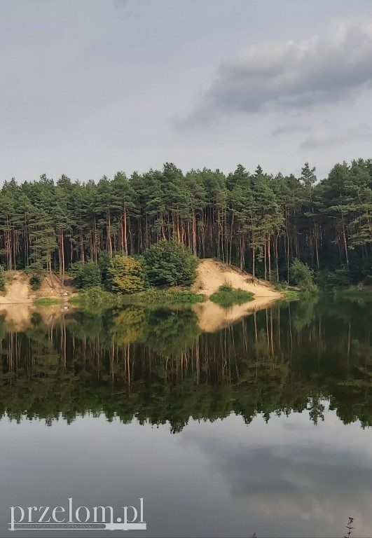
[[(41, 311), (42, 314), (42, 311)], [(0, 318), (0, 416), (104, 413), (180, 432), (191, 418), (310, 410), (329, 400), (344, 423), (372, 425), (371, 309), (350, 301), (275, 304), (216, 333), (191, 310), (128, 306), (94, 314)]]

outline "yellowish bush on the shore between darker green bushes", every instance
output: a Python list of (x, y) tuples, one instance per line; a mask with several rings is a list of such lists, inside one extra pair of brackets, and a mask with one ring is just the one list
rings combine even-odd
[(120, 294), (137, 294), (144, 289), (142, 265), (130, 256), (113, 256), (107, 278), (111, 289)]

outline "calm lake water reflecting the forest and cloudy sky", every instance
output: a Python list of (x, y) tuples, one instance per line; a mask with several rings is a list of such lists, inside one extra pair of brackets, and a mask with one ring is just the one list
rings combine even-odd
[(190, 311), (10, 310), (0, 536), (10, 506), (143, 497), (146, 531), (92, 536), (343, 537), (352, 516), (370, 537), (370, 307), (274, 305), (216, 333)]

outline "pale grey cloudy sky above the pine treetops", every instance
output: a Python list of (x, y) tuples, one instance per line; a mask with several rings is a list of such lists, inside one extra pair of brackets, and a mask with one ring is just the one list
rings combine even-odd
[(371, 0), (0, 0), (0, 182), (371, 158)]

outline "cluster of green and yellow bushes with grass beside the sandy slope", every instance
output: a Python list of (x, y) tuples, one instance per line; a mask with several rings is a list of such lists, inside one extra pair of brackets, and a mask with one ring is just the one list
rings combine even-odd
[(125, 296), (132, 295), (136, 297), (130, 302), (135, 303), (198, 303), (203, 297), (190, 289), (167, 289), (193, 284), (197, 265), (198, 258), (183, 244), (163, 240), (136, 258), (103, 252), (97, 263), (77, 261), (69, 268), (69, 275), (76, 287), (83, 289), (77, 301), (85, 305), (124, 304), (128, 303)]

